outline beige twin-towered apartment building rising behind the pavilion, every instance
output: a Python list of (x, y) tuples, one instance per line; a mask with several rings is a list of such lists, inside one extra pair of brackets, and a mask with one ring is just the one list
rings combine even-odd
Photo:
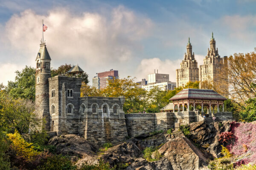
[(192, 53), (192, 45), (189, 39), (184, 60), (180, 63), (180, 69), (176, 69), (177, 87), (185, 86), (189, 81), (199, 81), (201, 83), (204, 80), (216, 80), (227, 56), (221, 58), (215, 43), (212, 33), (210, 49), (208, 48), (207, 56), (204, 58), (204, 64), (198, 67), (198, 62), (195, 60), (194, 52)]

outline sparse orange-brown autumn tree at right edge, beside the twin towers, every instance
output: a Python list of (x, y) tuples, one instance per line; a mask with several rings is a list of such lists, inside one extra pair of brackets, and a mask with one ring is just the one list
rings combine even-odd
[[(222, 71), (220, 72), (220, 85), (228, 85), (228, 88), (222, 88), (226, 95), (240, 109), (250, 98), (256, 97), (256, 54), (254, 52), (247, 54), (230, 55), (225, 61)], [(227, 76), (225, 76), (227, 75)]]

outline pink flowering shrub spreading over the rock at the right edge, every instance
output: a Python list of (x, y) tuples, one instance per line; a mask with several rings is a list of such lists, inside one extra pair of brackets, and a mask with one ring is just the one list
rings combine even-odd
[(236, 166), (247, 164), (249, 162), (256, 163), (256, 125), (252, 123), (232, 123), (231, 133), (235, 138), (227, 148), (234, 155), (242, 155), (245, 152), (251, 153), (246, 158), (236, 162)]

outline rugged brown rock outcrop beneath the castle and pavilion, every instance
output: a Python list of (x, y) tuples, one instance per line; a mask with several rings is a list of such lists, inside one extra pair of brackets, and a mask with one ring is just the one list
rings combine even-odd
[[(189, 138), (181, 131), (172, 134), (142, 134), (119, 142), (101, 154), (97, 153), (99, 148), (96, 145), (78, 135), (54, 137), (49, 144), (56, 147), (57, 153), (75, 156), (75, 161), (79, 158), (76, 162), (78, 166), (84, 163), (98, 164), (100, 158), (111, 167), (128, 163), (126, 170), (198, 170), (207, 166), (207, 158), (220, 155), (218, 134), (229, 130), (230, 123), (223, 121), (207, 124), (201, 121), (189, 124)], [(147, 161), (143, 158), (146, 147), (157, 148), (155, 152), (161, 155), (160, 160)]]

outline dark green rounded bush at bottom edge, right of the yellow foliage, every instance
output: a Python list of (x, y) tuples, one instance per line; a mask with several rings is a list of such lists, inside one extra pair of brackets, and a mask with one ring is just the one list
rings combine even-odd
[(61, 155), (54, 155), (47, 158), (43, 165), (37, 167), (37, 170), (76, 170), (76, 166), (72, 164), (70, 158)]

